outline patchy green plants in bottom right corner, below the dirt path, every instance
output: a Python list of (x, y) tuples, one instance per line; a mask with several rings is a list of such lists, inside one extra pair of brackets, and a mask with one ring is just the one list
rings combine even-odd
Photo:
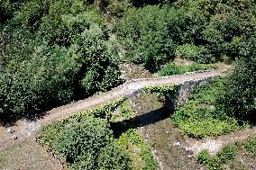
[[(239, 156), (242, 153), (242, 157)], [(247, 169), (246, 164), (249, 160), (256, 161), (256, 137), (248, 139), (247, 141), (237, 142), (225, 146), (214, 157), (211, 157), (207, 150), (203, 150), (197, 155), (197, 162), (205, 165), (209, 170), (222, 169)], [(248, 160), (246, 160), (246, 157)], [(245, 162), (240, 162), (241, 160)], [(225, 166), (225, 168), (224, 168)], [(227, 166), (229, 168), (227, 168)]]

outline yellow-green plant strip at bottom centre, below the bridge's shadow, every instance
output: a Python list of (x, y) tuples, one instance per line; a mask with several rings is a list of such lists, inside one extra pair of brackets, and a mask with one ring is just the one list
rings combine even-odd
[[(151, 146), (136, 130), (131, 129), (123, 132), (117, 143), (129, 153), (132, 159), (132, 169), (158, 169), (158, 164), (151, 154)], [(136, 149), (135, 152), (134, 149)]]

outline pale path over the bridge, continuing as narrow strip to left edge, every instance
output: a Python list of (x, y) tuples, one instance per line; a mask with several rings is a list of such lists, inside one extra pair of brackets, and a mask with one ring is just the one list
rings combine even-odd
[(171, 84), (183, 84), (187, 81), (198, 81), (214, 76), (224, 76), (225, 74), (221, 70), (211, 70), (205, 72), (193, 72), (187, 73), (180, 76), (164, 76), (159, 78), (144, 78), (144, 79), (134, 79), (119, 85), (114, 89), (102, 93), (96, 94), (91, 97), (88, 97), (85, 100), (78, 101), (76, 103), (69, 103), (67, 105), (54, 108), (36, 121), (26, 121), (21, 120), (17, 121), (13, 127), (10, 127), (14, 130), (14, 135), (17, 139), (13, 139), (14, 136), (8, 134), (5, 127), (0, 127), (0, 148), (5, 148), (6, 146), (13, 144), (14, 141), (26, 140), (32, 138), (35, 132), (40, 129), (41, 126), (49, 124), (52, 121), (59, 121), (69, 117), (71, 114), (82, 112), (87, 109), (96, 107), (101, 104), (110, 103), (114, 100), (123, 97), (129, 96), (134, 92), (138, 92), (144, 86), (151, 85), (171, 85)]

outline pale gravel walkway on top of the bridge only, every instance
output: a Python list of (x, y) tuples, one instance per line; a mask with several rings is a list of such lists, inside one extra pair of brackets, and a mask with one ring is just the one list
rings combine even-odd
[(85, 100), (78, 101), (76, 103), (70, 103), (64, 106), (55, 108), (47, 113), (42, 119), (37, 121), (37, 124), (43, 125), (50, 123), (52, 121), (58, 121), (69, 115), (82, 112), (97, 105), (113, 102), (114, 100), (129, 96), (138, 90), (141, 90), (144, 86), (151, 85), (170, 85), (170, 84), (183, 84), (187, 81), (198, 81), (201, 79), (214, 77), (214, 76), (224, 76), (224, 73), (219, 71), (207, 71), (198, 73), (188, 73), (181, 76), (165, 76), (160, 78), (146, 78), (146, 79), (136, 79), (124, 83), (123, 85), (117, 86), (114, 89), (103, 93), (88, 97)]

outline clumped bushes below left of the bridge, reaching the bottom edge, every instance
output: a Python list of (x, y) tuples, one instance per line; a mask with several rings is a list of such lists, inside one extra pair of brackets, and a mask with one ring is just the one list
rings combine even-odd
[(73, 169), (128, 169), (129, 157), (114, 143), (104, 120), (87, 117), (61, 130), (54, 148)]

